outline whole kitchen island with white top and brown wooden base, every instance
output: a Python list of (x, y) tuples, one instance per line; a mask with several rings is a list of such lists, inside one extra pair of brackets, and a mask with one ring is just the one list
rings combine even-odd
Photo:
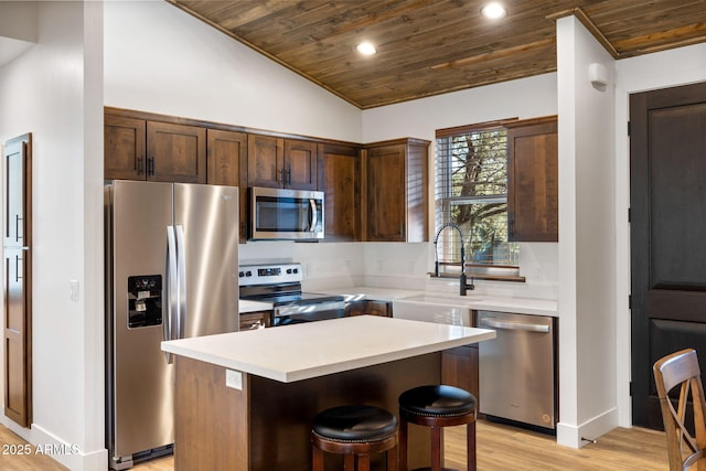
[[(441, 381), (441, 354), (492, 330), (361, 315), (162, 342), (176, 355), (174, 467), (304, 471), (309, 431), (328, 407), (397, 413), (398, 395)], [(410, 430), (410, 467), (428, 435)], [(327, 457), (328, 469), (341, 469)]]

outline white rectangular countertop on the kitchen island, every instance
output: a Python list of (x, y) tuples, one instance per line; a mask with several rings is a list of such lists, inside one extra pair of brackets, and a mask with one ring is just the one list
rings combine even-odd
[(495, 331), (375, 315), (162, 342), (162, 350), (290, 383), (439, 352)]

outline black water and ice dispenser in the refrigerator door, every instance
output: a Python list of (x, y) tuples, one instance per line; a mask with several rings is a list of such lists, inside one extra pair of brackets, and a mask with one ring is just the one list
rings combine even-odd
[(128, 277), (128, 328), (162, 323), (162, 276)]

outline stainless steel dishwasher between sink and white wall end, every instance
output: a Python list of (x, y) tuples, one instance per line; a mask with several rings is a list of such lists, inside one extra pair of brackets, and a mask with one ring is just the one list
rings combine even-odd
[(478, 327), (496, 331), (479, 343), (479, 404), (490, 420), (556, 429), (555, 323), (544, 315), (478, 311)]

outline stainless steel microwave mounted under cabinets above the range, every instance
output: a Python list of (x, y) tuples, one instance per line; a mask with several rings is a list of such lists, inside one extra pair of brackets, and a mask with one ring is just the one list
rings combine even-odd
[(323, 192), (250, 186), (249, 238), (323, 238)]

